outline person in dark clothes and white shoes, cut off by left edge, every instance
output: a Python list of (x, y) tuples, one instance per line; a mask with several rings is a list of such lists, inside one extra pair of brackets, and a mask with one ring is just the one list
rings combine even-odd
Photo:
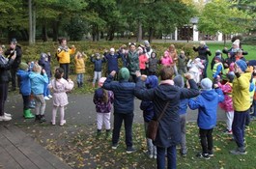
[[(10, 69), (14, 64), (16, 54), (10, 57), (9, 61), (3, 56), (3, 49), (0, 47), (0, 121), (10, 121), (5, 113), (5, 101), (8, 95), (8, 85), (10, 82)], [(8, 114), (10, 116), (10, 114)]]

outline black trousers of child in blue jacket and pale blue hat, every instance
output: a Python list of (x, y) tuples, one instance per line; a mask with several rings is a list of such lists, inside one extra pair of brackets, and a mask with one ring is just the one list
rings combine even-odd
[[(199, 137), (201, 141), (201, 146), (203, 149), (203, 154), (208, 154), (209, 151), (213, 151), (213, 128), (212, 129), (202, 129), (199, 128)], [(206, 142), (207, 139), (207, 142)]]

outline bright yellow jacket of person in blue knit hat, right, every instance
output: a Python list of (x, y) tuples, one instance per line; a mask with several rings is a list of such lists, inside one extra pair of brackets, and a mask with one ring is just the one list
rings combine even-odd
[(250, 108), (250, 79), (251, 72), (236, 73), (233, 80), (233, 107), (236, 111), (246, 111)]

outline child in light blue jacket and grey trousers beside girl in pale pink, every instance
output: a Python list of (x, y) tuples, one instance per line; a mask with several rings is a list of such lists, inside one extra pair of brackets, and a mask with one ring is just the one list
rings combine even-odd
[[(43, 75), (41, 75), (41, 71)], [(48, 83), (48, 77), (45, 70), (42, 70), (41, 66), (35, 64), (32, 71), (30, 71), (29, 78), (33, 98), (36, 101), (36, 121), (39, 120), (43, 123), (46, 121), (44, 118), (45, 100), (43, 99), (43, 87), (44, 83)]]

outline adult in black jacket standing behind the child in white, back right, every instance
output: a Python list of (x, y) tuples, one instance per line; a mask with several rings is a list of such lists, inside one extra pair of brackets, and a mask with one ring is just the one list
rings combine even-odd
[(212, 53), (211, 53), (210, 49), (208, 48), (208, 46), (206, 46), (206, 42), (200, 42), (200, 45), (197, 48), (195, 47), (195, 44), (194, 44), (193, 50), (198, 51), (198, 55), (200, 56), (200, 59), (206, 60), (205, 69), (203, 72), (204, 78), (206, 78), (207, 77), (207, 68), (208, 68), (208, 63), (209, 63), (208, 55), (212, 56)]

